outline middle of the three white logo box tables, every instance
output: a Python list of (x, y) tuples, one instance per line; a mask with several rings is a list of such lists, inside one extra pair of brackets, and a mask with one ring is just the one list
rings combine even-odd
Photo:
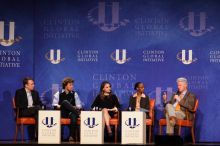
[(80, 125), (81, 144), (104, 144), (102, 111), (82, 111)]

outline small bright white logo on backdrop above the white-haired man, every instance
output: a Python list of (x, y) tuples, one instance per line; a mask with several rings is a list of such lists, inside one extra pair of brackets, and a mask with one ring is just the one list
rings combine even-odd
[(186, 50), (182, 50), (182, 52), (179, 52), (176, 57), (179, 61), (181, 61), (185, 65), (189, 65), (198, 60), (197, 58), (193, 59), (192, 50), (189, 50), (188, 60), (186, 60)]

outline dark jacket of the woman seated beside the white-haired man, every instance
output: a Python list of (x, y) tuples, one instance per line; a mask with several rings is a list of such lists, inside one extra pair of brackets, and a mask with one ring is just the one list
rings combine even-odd
[[(133, 95), (130, 97), (130, 100), (129, 100), (129, 107), (131, 108), (131, 110), (135, 110), (135, 107), (136, 107), (136, 98), (137, 97), (134, 97)], [(146, 110), (149, 110), (149, 104), (150, 104), (150, 98), (149, 96), (147, 96), (145, 94), (145, 97), (141, 97), (141, 100), (140, 100), (140, 108), (144, 108)], [(147, 112), (146, 113), (146, 117), (149, 118), (149, 113)]]

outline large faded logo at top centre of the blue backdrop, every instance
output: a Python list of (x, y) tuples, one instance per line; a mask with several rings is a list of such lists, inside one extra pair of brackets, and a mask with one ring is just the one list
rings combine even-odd
[[(106, 9), (111, 7), (112, 20), (107, 23), (108, 16), (106, 16)], [(98, 9), (98, 10), (97, 10)], [(112, 2), (112, 4), (105, 4), (105, 2), (99, 2), (98, 7), (91, 9), (88, 12), (88, 19), (94, 25), (97, 25), (101, 30), (105, 32), (111, 32), (118, 29), (120, 26), (126, 26), (130, 21), (128, 19), (119, 20), (119, 2)], [(98, 11), (98, 12), (96, 12)], [(94, 14), (98, 13), (98, 18), (95, 18)]]

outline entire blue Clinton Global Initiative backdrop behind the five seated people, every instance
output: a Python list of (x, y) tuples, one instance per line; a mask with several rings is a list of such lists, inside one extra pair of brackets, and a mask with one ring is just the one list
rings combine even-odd
[[(184, 76), (189, 90), (199, 99), (196, 140), (220, 141), (220, 108), (215, 106), (220, 103), (218, 1), (2, 3), (4, 37), (8, 39), (9, 22), (14, 21), (18, 39), (4, 46), (1, 38), (0, 115), (4, 120), (0, 139), (13, 138), (11, 99), (25, 76), (34, 77), (36, 89), (48, 108), (66, 76), (75, 79), (75, 90), (85, 109), (90, 108), (104, 80), (112, 83), (122, 109), (128, 105), (134, 83), (142, 81), (146, 93), (156, 99), (155, 133), (163, 113), (161, 93), (167, 91), (171, 95), (177, 90), (176, 78)], [(2, 32), (3, 29), (0, 36)], [(19, 66), (9, 66), (10, 63)]]

